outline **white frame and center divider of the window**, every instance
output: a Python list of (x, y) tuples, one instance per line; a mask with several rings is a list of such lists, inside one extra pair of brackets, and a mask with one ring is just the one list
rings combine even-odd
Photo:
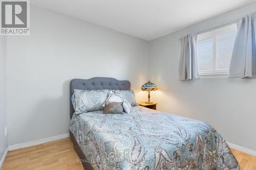
[(212, 29), (210, 31), (201, 33), (197, 35), (197, 42), (201, 40), (205, 40), (208, 38), (212, 38), (214, 41), (213, 44), (213, 67), (214, 70), (200, 71), (200, 78), (227, 78), (229, 69), (216, 70), (216, 48), (217, 48), (217, 35), (237, 31), (237, 23), (232, 23), (231, 25), (224, 26), (217, 29)]

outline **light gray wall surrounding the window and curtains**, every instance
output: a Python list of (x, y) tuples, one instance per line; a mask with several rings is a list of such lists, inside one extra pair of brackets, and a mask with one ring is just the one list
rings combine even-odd
[(256, 79), (201, 79), (179, 81), (179, 38), (215, 28), (256, 11), (256, 3), (150, 42), (150, 78), (160, 91), (152, 93), (158, 108), (203, 120), (226, 141), (256, 151)]

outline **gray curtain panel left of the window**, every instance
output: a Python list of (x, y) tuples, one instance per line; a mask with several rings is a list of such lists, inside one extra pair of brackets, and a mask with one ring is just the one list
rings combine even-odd
[(199, 79), (197, 66), (197, 34), (189, 34), (181, 38), (179, 78), (180, 80)]

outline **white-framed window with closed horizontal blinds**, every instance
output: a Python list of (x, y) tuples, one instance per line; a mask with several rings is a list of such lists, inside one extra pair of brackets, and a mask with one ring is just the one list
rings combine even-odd
[(197, 59), (201, 78), (228, 76), (236, 36), (236, 24), (198, 35)]

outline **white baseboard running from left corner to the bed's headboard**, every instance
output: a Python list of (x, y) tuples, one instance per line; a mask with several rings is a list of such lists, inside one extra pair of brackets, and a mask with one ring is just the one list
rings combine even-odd
[(69, 133), (58, 135), (58, 136), (52, 136), (52, 137), (48, 137), (48, 138), (44, 138), (44, 139), (33, 140), (33, 141), (25, 142), (25, 143), (14, 144), (14, 145), (10, 145), (8, 147), (8, 151), (32, 147), (37, 144), (42, 144), (42, 143), (46, 143), (46, 142), (50, 142), (50, 141), (54, 141), (54, 140), (68, 138), (68, 137), (70, 137)]

